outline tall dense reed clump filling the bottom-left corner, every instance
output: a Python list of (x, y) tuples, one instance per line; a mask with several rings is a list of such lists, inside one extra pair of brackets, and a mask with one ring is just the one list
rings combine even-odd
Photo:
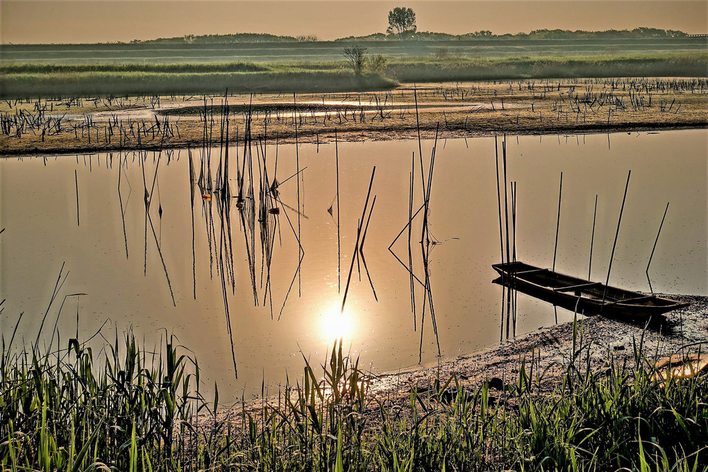
[(102, 355), (76, 339), (67, 350), (43, 354), (5, 347), (3, 471), (132, 471), (185, 462), (192, 374), (185, 374), (186, 358), (172, 343), (156, 355), (140, 350), (132, 335), (124, 345), (118, 339), (106, 345)]

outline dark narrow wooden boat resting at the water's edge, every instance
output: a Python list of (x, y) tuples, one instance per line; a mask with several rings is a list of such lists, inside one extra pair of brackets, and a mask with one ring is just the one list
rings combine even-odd
[(603, 314), (639, 320), (685, 308), (687, 303), (609, 287), (522, 262), (493, 264), (494, 283), (586, 316)]

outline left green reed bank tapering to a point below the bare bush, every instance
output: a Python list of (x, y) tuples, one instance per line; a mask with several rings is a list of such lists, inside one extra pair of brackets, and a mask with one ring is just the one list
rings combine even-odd
[(332, 67), (261, 67), (255, 64), (10, 67), (0, 74), (0, 96), (124, 96), (248, 92), (387, 90), (396, 82), (379, 74), (356, 76)]

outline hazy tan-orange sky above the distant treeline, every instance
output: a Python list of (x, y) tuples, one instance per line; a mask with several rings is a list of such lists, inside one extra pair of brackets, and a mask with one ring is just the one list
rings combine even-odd
[(413, 8), (419, 31), (440, 33), (639, 26), (708, 33), (705, 0), (0, 0), (0, 40), (128, 42), (227, 33), (333, 40), (383, 33), (395, 6)]

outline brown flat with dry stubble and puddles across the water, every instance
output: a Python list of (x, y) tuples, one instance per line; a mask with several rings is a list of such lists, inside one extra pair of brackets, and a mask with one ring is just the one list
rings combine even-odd
[[(417, 114), (416, 117), (416, 102)], [(4, 100), (4, 154), (170, 149), (219, 144), (229, 105), (229, 142), (280, 142), (489, 134), (610, 132), (704, 127), (706, 79), (544, 79), (401, 86), (393, 91), (304, 95), (139, 96)], [(234, 132), (235, 130), (235, 132)]]

